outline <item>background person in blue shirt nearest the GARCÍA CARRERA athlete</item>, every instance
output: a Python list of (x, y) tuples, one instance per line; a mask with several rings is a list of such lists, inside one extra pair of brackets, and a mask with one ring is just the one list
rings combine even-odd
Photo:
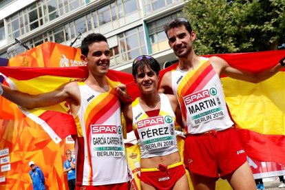
[(67, 160), (63, 164), (63, 172), (67, 173), (67, 182), (70, 190), (75, 189), (75, 158), (72, 158), (72, 151), (67, 149), (65, 151)]

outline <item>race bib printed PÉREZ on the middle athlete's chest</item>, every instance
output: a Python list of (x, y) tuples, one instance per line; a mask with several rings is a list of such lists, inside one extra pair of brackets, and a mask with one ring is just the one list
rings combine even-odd
[(175, 129), (171, 116), (157, 116), (136, 123), (142, 146), (148, 151), (175, 145)]

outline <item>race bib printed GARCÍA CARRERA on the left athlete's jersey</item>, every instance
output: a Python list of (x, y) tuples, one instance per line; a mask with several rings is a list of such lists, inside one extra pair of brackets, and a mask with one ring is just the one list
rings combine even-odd
[(123, 157), (122, 127), (116, 125), (91, 125), (92, 156), (94, 157)]

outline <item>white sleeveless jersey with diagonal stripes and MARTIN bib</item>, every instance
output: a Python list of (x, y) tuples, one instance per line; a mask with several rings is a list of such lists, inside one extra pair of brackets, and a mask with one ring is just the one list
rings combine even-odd
[(209, 59), (200, 57), (195, 70), (171, 71), (173, 93), (178, 97), (187, 134), (202, 134), (233, 126), (220, 77)]

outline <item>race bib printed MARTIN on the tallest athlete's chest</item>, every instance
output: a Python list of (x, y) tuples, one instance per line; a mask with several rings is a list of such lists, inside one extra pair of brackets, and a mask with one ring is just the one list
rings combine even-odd
[(192, 126), (224, 116), (216, 87), (184, 96), (183, 101)]

